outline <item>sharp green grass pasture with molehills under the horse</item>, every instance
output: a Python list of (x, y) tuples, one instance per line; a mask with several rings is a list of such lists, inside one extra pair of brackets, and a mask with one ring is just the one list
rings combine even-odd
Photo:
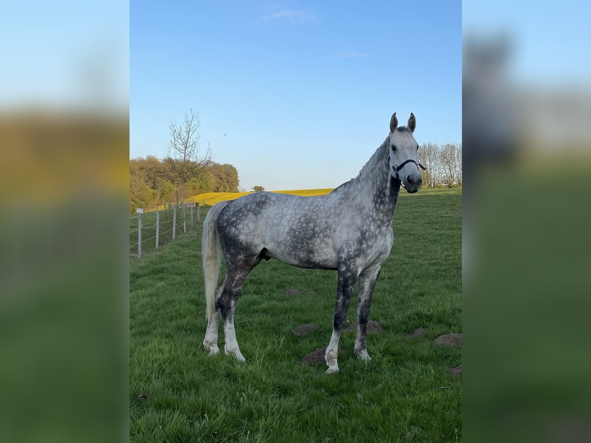
[[(243, 364), (202, 347), (200, 226), (131, 258), (131, 440), (461, 441), (462, 380), (449, 373), (462, 363), (461, 350), (432, 343), (462, 331), (461, 192), (401, 194), (370, 314), (384, 332), (368, 335), (368, 364), (353, 354), (355, 333), (343, 333), (340, 373), (331, 376), (324, 365), (299, 361), (329, 341), (336, 272), (277, 260), (255, 268), (235, 315)], [(287, 295), (288, 288), (302, 295)], [(355, 317), (356, 295), (348, 321)], [(291, 334), (304, 323), (319, 328)], [(427, 334), (405, 336), (417, 327)], [(219, 345), (223, 351), (221, 329)]]

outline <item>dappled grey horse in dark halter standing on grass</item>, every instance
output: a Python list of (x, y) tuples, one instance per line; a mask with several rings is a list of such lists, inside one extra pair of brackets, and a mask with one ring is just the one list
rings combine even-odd
[[(415, 126), (413, 113), (401, 127), (394, 113), (387, 138), (359, 175), (329, 194), (302, 197), (259, 191), (220, 201), (209, 210), (203, 222), (202, 259), (207, 317), (203, 347), (210, 355), (219, 354), (222, 318), (226, 355), (246, 361), (236, 341), (236, 303), (248, 273), (261, 260), (273, 258), (298, 268), (338, 273), (333, 333), (324, 356), (327, 374), (339, 371), (339, 338), (359, 280), (355, 354), (371, 360), (365, 343), (369, 307), (394, 242), (392, 217), (400, 187), (412, 194), (421, 186), (418, 167), (424, 167), (417, 158)], [(220, 249), (228, 272), (217, 286)]]

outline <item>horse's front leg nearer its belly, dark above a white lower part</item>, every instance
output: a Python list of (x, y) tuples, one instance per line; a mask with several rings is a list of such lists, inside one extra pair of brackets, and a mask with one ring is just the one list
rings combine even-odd
[(340, 334), (345, 327), (347, 320), (347, 312), (349, 311), (349, 302), (353, 294), (353, 286), (357, 281), (358, 273), (350, 271), (349, 269), (339, 269), (339, 282), (336, 291), (335, 314), (333, 315), (333, 333), (330, 337), (329, 346), (326, 348), (324, 360), (329, 369), (327, 374), (339, 372), (339, 364), (337, 357), (339, 356), (339, 339)]

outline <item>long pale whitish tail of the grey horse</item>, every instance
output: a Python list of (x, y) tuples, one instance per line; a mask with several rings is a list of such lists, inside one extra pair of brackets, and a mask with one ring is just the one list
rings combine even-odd
[(209, 210), (203, 222), (201, 257), (205, 282), (205, 315), (207, 321), (213, 319), (216, 311), (217, 278), (220, 273), (220, 238), (219, 233), (217, 233), (217, 217), (229, 203), (229, 201), (220, 201), (215, 204)]

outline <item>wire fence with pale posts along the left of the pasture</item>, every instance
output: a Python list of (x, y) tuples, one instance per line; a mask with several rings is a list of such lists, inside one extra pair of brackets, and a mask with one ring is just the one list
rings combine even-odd
[(141, 258), (147, 250), (174, 241), (178, 234), (193, 231), (201, 221), (199, 203), (184, 204), (164, 211), (142, 213), (129, 217), (129, 255)]

